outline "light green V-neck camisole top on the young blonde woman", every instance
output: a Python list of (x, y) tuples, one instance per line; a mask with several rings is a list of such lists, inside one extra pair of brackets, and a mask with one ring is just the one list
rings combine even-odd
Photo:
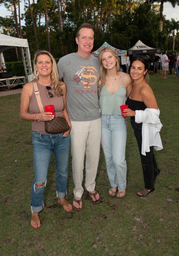
[(102, 86), (99, 97), (99, 105), (102, 115), (122, 115), (120, 106), (125, 104), (127, 93), (123, 80), (124, 76), (120, 87), (114, 94), (108, 92), (105, 85)]

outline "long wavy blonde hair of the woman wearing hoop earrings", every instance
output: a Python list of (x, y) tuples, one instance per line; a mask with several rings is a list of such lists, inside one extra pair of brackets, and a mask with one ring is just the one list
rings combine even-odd
[(61, 90), (62, 82), (60, 81), (60, 77), (58, 75), (56, 61), (53, 58), (53, 56), (46, 50), (37, 50), (34, 53), (34, 59), (33, 59), (33, 66), (34, 66), (33, 77), (34, 77), (34, 79), (33, 79), (33, 81), (38, 81), (38, 75), (35, 74), (35, 70), (36, 70), (35, 65), (37, 63), (37, 57), (39, 55), (48, 55), (50, 57), (50, 59), (52, 61), (51, 88), (52, 88), (52, 91), (57, 94), (57, 96), (62, 96), (63, 95), (63, 92)]

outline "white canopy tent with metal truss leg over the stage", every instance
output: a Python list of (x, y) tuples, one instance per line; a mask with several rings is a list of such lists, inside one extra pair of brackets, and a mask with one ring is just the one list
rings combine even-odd
[(26, 80), (31, 81), (32, 66), (27, 39), (0, 34), (0, 66), (5, 67), (3, 52), (14, 47), (21, 47)]

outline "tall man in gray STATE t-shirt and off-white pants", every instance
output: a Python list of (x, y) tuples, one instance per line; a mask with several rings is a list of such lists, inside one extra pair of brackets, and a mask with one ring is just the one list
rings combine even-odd
[(58, 61), (58, 73), (67, 87), (67, 111), (70, 117), (72, 171), (75, 188), (72, 207), (83, 208), (82, 187), (84, 155), (86, 154), (85, 188), (93, 203), (101, 197), (95, 191), (101, 143), (101, 110), (98, 103), (98, 58), (91, 55), (94, 31), (89, 23), (79, 27), (76, 36), (77, 53), (71, 53)]

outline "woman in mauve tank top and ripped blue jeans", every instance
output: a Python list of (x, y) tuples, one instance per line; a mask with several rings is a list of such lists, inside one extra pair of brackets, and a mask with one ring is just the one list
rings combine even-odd
[[(43, 106), (53, 104), (55, 116), (62, 116), (62, 111), (70, 125), (66, 110), (66, 86), (59, 80), (55, 59), (44, 50), (34, 55), (34, 82), (38, 85)], [(33, 81), (25, 84), (21, 93), (20, 118), (32, 122), (32, 143), (35, 178), (31, 187), (31, 227), (40, 228), (38, 213), (43, 209), (44, 189), (50, 157), (55, 156), (57, 203), (66, 212), (72, 206), (64, 197), (67, 192), (68, 157), (70, 147), (70, 129), (61, 134), (47, 134), (45, 122), (54, 118), (51, 112), (40, 112), (33, 89)]]

